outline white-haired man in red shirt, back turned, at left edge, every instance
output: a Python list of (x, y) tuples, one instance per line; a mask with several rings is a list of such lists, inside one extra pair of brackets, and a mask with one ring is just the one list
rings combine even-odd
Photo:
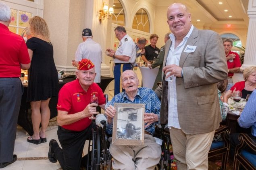
[(21, 69), (30, 59), (24, 39), (10, 32), (10, 7), (0, 2), (0, 168), (17, 160), (13, 154), (23, 85)]

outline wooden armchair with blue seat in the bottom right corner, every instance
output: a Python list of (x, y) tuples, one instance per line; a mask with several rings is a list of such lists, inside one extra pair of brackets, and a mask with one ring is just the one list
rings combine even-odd
[(246, 170), (256, 169), (256, 155), (244, 150), (244, 147), (249, 147), (250, 150), (256, 152), (256, 143), (248, 136), (248, 134), (239, 134), (240, 143), (235, 147), (235, 157), (233, 170), (241, 169), (240, 165)]

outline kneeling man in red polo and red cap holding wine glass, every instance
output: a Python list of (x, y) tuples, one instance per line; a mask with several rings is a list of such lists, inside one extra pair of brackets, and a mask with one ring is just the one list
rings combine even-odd
[(99, 106), (104, 109), (105, 98), (102, 89), (94, 83), (96, 76), (92, 61), (79, 61), (77, 79), (65, 84), (58, 95), (58, 140), (49, 143), (48, 158), (50, 162), (60, 163), (62, 169), (78, 170), (81, 164), (85, 140), (89, 138), (91, 129), (96, 126), (89, 119), (96, 114), (96, 103), (90, 104), (92, 96), (98, 97)]

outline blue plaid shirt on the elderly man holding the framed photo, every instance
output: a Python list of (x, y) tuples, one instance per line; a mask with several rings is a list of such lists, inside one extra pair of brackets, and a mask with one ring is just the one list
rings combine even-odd
[[(119, 93), (113, 97), (111, 101), (109, 101), (105, 108), (109, 105), (114, 106), (114, 103), (136, 103), (136, 104), (145, 104), (145, 113), (155, 113), (158, 115), (159, 119), (159, 113), (160, 113), (160, 105), (161, 102), (158, 99), (156, 93), (149, 88), (146, 87), (139, 87), (137, 91), (137, 95), (134, 98), (134, 101), (131, 101), (125, 92)], [(146, 125), (147, 123), (145, 123)], [(113, 123), (108, 124), (106, 127), (106, 132), (108, 134), (112, 134), (113, 129)], [(145, 131), (150, 132), (151, 134), (154, 134), (155, 132), (155, 123), (152, 123), (147, 128), (145, 128)]]

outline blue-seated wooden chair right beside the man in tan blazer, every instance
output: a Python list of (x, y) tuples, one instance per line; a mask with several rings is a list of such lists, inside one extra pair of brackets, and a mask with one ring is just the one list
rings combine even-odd
[(223, 140), (219, 142), (212, 142), (212, 146), (208, 153), (208, 158), (222, 154), (222, 165), (221, 165), (222, 170), (226, 170), (227, 168), (227, 161), (229, 158), (229, 149), (230, 149), (229, 135), (230, 135), (230, 128), (225, 125), (220, 126), (215, 131), (214, 137), (221, 136)]

